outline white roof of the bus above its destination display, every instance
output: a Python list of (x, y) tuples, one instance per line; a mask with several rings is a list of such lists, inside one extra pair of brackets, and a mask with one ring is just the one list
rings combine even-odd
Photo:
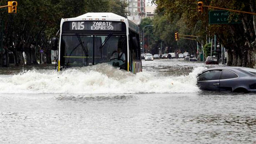
[(135, 31), (136, 33), (139, 33), (139, 27), (136, 23), (132, 22), (131, 20), (128, 20), (127, 18), (114, 14), (112, 12), (88, 12), (86, 14), (77, 16), (75, 18), (65, 18), (65, 19), (61, 19), (61, 27), (62, 24), (65, 21), (79, 21), (79, 20), (107, 20), (107, 21), (123, 21), (125, 22), (125, 24), (127, 25), (127, 27), (133, 31)]

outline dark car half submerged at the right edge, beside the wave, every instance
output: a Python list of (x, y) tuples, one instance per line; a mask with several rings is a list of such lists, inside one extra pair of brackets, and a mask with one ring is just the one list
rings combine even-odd
[(209, 68), (198, 75), (197, 86), (212, 91), (256, 92), (256, 69)]

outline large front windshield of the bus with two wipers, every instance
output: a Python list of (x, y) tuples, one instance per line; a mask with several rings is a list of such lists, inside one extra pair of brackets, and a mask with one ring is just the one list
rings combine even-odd
[(61, 59), (65, 66), (95, 65), (109, 62), (118, 48), (127, 51), (126, 35), (62, 35)]

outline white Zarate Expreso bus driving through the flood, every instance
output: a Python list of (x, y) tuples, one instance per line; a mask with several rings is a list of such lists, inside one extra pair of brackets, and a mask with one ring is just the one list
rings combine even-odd
[[(57, 50), (57, 44), (52, 49)], [(142, 71), (139, 27), (113, 13), (61, 19), (58, 50), (58, 71), (104, 62), (133, 73)]]

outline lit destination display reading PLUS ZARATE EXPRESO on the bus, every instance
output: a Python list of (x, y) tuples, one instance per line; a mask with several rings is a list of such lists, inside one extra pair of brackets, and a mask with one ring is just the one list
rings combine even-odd
[(122, 22), (65, 22), (63, 23), (63, 31), (125, 31), (125, 27)]

